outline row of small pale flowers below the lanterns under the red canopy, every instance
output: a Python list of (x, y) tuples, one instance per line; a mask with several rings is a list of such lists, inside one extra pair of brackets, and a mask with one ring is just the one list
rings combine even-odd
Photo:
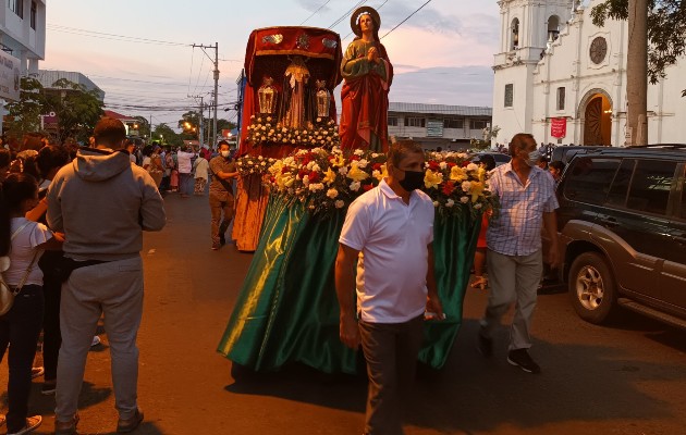
[(293, 145), (331, 149), (341, 142), (335, 122), (321, 117), (303, 128), (293, 128), (277, 122), (270, 115), (252, 115), (247, 129), (247, 139), (253, 146)]

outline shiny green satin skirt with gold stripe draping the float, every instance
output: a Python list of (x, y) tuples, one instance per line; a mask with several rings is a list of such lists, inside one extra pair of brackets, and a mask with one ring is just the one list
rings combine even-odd
[[(218, 351), (255, 371), (301, 362), (327, 373), (357, 372), (356, 352), (339, 340), (333, 266), (345, 220), (320, 219), (271, 197), (259, 244)], [(425, 323), (419, 360), (440, 369), (460, 325), (480, 219), (437, 216), (433, 251), (446, 319)]]

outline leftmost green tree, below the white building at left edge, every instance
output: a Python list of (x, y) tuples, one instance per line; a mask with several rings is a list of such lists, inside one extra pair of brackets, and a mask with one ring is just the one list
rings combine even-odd
[(45, 113), (42, 85), (34, 77), (22, 77), (19, 101), (7, 104), (8, 133), (17, 138), (40, 128), (40, 115)]

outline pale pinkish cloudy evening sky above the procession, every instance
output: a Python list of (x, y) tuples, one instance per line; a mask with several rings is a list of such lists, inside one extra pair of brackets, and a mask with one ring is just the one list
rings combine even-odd
[[(192, 46), (218, 44), (218, 116), (236, 121), (223, 108), (236, 101), (253, 29), (331, 28), (345, 47), (358, 3), (379, 11), (383, 37), (425, 0), (50, 0), (40, 69), (81, 72), (105, 90), (106, 109), (176, 128), (198, 105), (188, 96), (208, 102), (213, 87), (215, 50)], [(390, 101), (491, 107), (499, 26), (495, 0), (430, 0), (382, 38), (395, 70)]]

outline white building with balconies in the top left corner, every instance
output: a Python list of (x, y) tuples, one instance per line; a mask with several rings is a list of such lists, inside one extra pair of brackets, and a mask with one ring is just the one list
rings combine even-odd
[(4, 2), (0, 48), (20, 60), (22, 75), (38, 74), (38, 61), (46, 55), (46, 0)]

